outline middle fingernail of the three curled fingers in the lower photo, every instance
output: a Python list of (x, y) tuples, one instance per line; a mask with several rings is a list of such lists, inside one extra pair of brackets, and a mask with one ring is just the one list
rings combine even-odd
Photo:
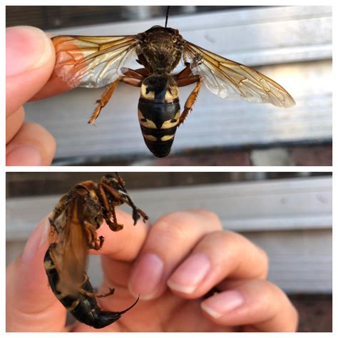
[(187, 258), (168, 280), (168, 287), (184, 293), (192, 293), (210, 270), (210, 260), (203, 253)]

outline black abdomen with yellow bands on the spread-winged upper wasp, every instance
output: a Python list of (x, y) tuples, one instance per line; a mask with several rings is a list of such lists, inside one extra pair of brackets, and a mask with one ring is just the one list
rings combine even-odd
[(138, 121), (145, 144), (158, 158), (169, 155), (179, 120), (178, 87), (172, 76), (145, 78), (138, 101)]

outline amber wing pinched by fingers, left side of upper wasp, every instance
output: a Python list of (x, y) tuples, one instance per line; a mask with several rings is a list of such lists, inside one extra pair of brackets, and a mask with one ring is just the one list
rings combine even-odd
[(98, 88), (115, 81), (136, 58), (135, 36), (56, 36), (53, 76), (68, 87)]

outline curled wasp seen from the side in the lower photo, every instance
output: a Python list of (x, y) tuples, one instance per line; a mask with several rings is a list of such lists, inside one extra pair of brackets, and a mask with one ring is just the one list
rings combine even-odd
[(137, 208), (125, 188), (123, 179), (115, 173), (105, 175), (100, 183), (88, 180), (75, 185), (54, 208), (49, 218), (50, 245), (44, 257), (48, 282), (54, 295), (79, 322), (95, 327), (106, 327), (116, 322), (121, 312), (103, 311), (96, 302), (97, 297), (113, 295), (114, 290), (97, 294), (86, 274), (88, 249), (100, 250), (103, 236), (96, 230), (103, 220), (112, 231), (120, 231), (115, 208), (126, 203), (133, 210), (134, 225), (140, 217), (148, 219), (145, 212)]

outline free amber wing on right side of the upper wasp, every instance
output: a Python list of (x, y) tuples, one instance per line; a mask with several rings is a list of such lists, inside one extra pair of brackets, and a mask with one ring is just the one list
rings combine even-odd
[(205, 86), (221, 98), (244, 98), (257, 103), (292, 107), (295, 101), (282, 86), (252, 68), (222, 58), (185, 41), (185, 57), (193, 74), (200, 75)]

